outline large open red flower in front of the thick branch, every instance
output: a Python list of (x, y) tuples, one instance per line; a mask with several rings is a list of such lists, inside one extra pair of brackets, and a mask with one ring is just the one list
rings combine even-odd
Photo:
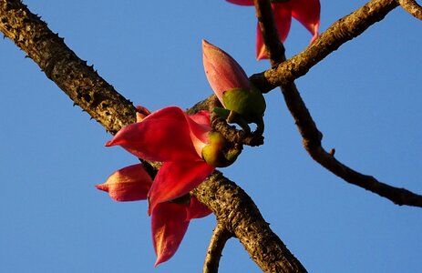
[(210, 131), (209, 112), (187, 115), (170, 106), (123, 127), (106, 146), (118, 145), (136, 157), (163, 163), (148, 193), (151, 214), (159, 203), (184, 196), (211, 175), (215, 167), (202, 158)]

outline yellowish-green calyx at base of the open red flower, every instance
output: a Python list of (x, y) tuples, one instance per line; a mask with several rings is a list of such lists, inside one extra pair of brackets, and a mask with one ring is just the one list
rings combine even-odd
[(210, 144), (202, 148), (202, 158), (213, 167), (228, 167), (241, 154), (242, 148), (232, 147), (220, 132), (208, 134)]

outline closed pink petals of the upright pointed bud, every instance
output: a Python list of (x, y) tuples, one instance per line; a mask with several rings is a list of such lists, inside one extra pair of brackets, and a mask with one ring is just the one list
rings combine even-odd
[(222, 104), (222, 93), (232, 88), (248, 89), (248, 76), (232, 56), (215, 45), (202, 40), (202, 60), (205, 75)]

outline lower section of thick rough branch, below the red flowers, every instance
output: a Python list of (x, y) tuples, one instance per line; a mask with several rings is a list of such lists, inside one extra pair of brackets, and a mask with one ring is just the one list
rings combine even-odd
[(263, 272), (306, 272), (241, 187), (214, 172), (193, 194), (218, 217), (219, 223), (239, 238)]

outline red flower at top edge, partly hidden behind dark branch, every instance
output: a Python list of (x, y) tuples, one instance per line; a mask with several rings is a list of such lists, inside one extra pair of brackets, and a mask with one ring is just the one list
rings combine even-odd
[[(226, 0), (236, 5), (253, 5), (253, 0)], [(318, 37), (321, 5), (319, 0), (287, 0), (272, 3), (275, 25), (282, 42), (289, 34), (292, 17), (299, 21), (313, 35), (311, 43)], [(256, 58), (268, 58), (258, 25), (256, 36)]]

